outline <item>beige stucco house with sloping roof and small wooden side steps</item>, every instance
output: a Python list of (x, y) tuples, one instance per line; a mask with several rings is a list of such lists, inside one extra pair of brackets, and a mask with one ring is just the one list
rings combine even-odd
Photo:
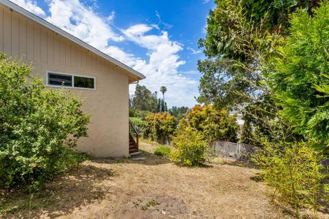
[(121, 157), (138, 150), (129, 131), (129, 84), (144, 75), (7, 0), (0, 0), (0, 51), (31, 62), (49, 88), (80, 94), (92, 123), (78, 151)]

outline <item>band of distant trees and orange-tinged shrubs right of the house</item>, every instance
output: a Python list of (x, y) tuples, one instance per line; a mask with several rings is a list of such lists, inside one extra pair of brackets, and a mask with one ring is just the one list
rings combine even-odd
[(168, 110), (164, 101), (167, 88), (162, 86), (160, 92), (162, 98), (158, 98), (158, 92), (152, 93), (146, 86), (137, 84), (134, 95), (130, 96), (130, 120), (143, 138), (170, 143), (178, 128), (184, 132), (186, 127), (191, 127), (208, 143), (238, 140), (236, 117), (229, 116), (227, 110), (216, 110), (211, 105), (195, 105), (192, 109), (173, 106)]

